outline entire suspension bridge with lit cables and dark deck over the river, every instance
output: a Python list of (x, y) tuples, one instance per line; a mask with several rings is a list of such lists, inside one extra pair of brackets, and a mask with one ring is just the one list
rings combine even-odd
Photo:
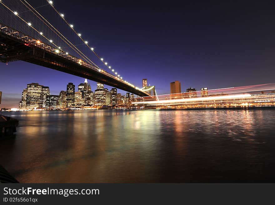
[[(38, 3), (43, 3), (39, 5)], [(75, 26), (55, 8), (53, 1), (0, 1), (0, 61), (25, 61), (82, 78), (87, 78), (141, 97), (150, 96), (147, 90), (131, 84), (117, 69), (96, 53)], [(42, 14), (42, 12), (44, 14)], [(50, 16), (45, 16), (50, 13)], [(50, 18), (63, 25), (66, 35)], [(64, 29), (65, 27), (65, 29)], [(68, 37), (72, 40), (68, 40)], [(79, 47), (82, 47), (80, 50)]]

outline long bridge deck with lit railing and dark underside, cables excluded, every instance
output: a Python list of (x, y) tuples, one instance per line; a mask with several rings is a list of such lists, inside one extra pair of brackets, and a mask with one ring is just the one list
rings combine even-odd
[(63, 51), (57, 53), (55, 47), (44, 42), (39, 43), (38, 39), (0, 24), (0, 61), (6, 63), (17, 60), (87, 78), (141, 97), (149, 96), (124, 80), (102, 69), (99, 71), (90, 63), (79, 61)]

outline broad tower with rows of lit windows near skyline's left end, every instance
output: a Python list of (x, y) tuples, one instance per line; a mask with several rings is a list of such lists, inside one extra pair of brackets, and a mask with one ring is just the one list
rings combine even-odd
[(42, 87), (43, 86), (39, 85), (38, 83), (27, 84), (27, 96), (26, 96), (27, 109), (39, 108)]

